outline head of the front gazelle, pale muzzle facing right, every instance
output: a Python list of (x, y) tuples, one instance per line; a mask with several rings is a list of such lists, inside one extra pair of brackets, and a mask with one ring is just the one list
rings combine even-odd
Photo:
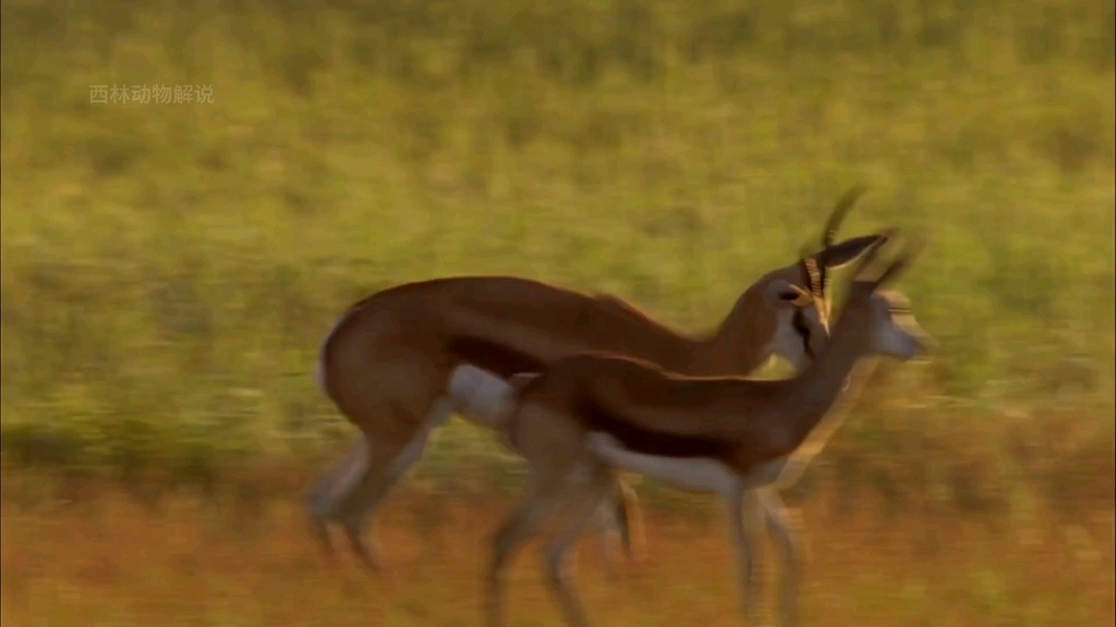
[[(892, 234), (888, 233), (884, 241)], [(881, 248), (883, 242), (872, 247), (860, 261), (834, 336), (852, 334), (863, 343), (864, 350), (873, 355), (902, 361), (925, 357), (933, 341), (911, 312), (911, 301), (898, 291), (883, 289), (911, 266), (921, 247), (908, 244), (878, 277), (866, 278), (864, 269), (877, 257)]]

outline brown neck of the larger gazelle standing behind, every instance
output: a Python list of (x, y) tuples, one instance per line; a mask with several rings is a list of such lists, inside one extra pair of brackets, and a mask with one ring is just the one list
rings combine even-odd
[(776, 326), (767, 315), (762, 293), (752, 286), (711, 336), (694, 347), (693, 375), (745, 375), (771, 357)]

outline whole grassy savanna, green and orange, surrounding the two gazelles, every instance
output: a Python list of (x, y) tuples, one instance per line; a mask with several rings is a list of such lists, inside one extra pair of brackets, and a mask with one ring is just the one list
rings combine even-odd
[[(475, 624), (520, 483), (483, 433), (389, 502), (385, 579), (310, 543), (297, 498), (353, 436), (311, 377), (336, 317), (513, 273), (709, 328), (855, 182), (845, 233), (927, 235), (901, 287), (941, 347), (788, 491), (806, 624), (1114, 619), (1110, 3), (6, 0), (0, 28), (4, 625)], [(652, 557), (609, 583), (583, 547), (593, 615), (732, 624), (716, 507), (639, 491)], [(557, 625), (536, 551), (516, 573), (513, 620)]]

